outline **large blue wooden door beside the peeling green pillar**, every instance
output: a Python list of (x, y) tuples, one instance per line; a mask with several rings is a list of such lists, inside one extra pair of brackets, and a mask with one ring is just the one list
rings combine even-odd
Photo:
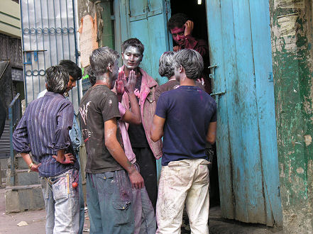
[(222, 215), (282, 226), (269, 3), (210, 0), (207, 22)]

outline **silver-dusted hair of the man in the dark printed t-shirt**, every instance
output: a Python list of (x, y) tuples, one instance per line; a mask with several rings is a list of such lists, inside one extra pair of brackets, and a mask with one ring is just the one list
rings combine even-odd
[(92, 67), (92, 72), (98, 77), (101, 74), (106, 73), (107, 67), (119, 59), (119, 53), (112, 50), (109, 47), (101, 47), (92, 51), (92, 55), (89, 57), (90, 67)]

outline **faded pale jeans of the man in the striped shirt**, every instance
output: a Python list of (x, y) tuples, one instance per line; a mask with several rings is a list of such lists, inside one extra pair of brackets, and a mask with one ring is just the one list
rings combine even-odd
[(56, 177), (40, 177), (45, 199), (45, 233), (78, 233), (79, 191), (72, 187), (78, 170), (69, 169)]

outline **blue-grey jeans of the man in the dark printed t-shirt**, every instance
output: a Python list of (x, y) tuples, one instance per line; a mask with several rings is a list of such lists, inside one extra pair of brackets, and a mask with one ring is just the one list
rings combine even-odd
[(90, 233), (133, 233), (131, 182), (124, 170), (86, 174)]

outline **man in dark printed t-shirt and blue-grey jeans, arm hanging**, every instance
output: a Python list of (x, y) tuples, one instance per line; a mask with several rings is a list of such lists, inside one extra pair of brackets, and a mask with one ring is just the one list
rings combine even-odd
[(89, 57), (93, 87), (79, 106), (82, 135), (87, 151), (87, 204), (90, 233), (133, 233), (131, 187), (144, 186), (141, 174), (128, 161), (116, 120), (119, 104), (111, 89), (119, 74), (119, 54), (98, 48)]

